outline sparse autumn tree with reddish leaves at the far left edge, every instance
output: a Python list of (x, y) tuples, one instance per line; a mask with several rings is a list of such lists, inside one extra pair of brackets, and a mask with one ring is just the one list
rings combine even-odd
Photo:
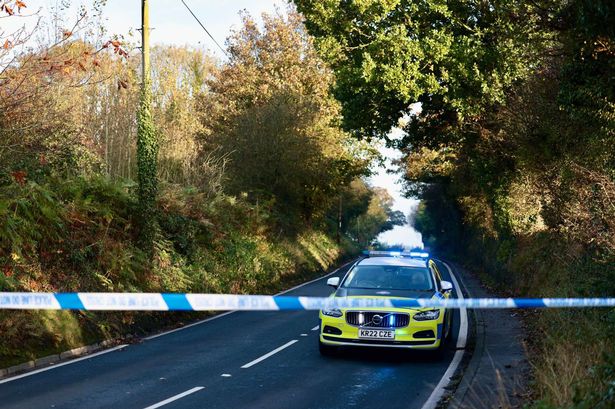
[[(126, 55), (115, 40), (89, 44), (79, 39), (83, 31), (97, 27), (99, 6), (95, 2), (93, 17), (84, 11), (74, 20), (54, 16), (58, 24), (47, 40), (35, 42), (36, 31), (0, 29), (2, 174), (24, 172), (30, 180), (43, 168), (63, 173), (98, 169), (100, 161), (83, 137), (88, 124), (83, 119), (84, 96), (90, 87), (108, 80), (100, 70), (101, 60), (109, 54), (120, 59)], [(13, 14), (4, 15), (6, 7)], [(0, 2), (0, 18), (19, 18), (23, 8), (22, 2)], [(65, 21), (72, 24), (62, 26)], [(1, 179), (5, 182), (4, 176)]]

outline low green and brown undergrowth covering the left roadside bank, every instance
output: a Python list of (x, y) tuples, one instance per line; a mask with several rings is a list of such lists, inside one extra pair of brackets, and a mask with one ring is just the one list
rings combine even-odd
[[(141, 291), (271, 294), (322, 273), (352, 245), (307, 230), (276, 238), (266, 211), (167, 185), (150, 264), (134, 244), (131, 182), (50, 178), (0, 187), (3, 291)], [(0, 367), (102, 339), (143, 333), (195, 314), (0, 312)]]

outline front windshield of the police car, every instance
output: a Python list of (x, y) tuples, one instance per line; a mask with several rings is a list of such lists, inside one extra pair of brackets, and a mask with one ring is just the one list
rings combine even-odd
[(427, 268), (356, 266), (350, 272), (342, 287), (429, 291), (433, 289), (433, 283)]

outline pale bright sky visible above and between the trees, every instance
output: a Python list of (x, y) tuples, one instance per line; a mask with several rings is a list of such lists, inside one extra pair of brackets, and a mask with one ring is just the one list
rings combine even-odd
[[(241, 25), (239, 12), (247, 11), (253, 16), (260, 16), (263, 12), (274, 13), (276, 10), (284, 12), (287, 3), (284, 0), (184, 0), (194, 14), (201, 20), (207, 30), (224, 47), (226, 38), (232, 30)], [(92, 0), (28, 0), (28, 10), (41, 9), (41, 15), (49, 14), (52, 7), (63, 3), (70, 3), (67, 16), (76, 15), (71, 13), (80, 5), (87, 8), (93, 3)], [(202, 47), (210, 50), (214, 55), (223, 58), (223, 53), (215, 43), (207, 36), (197, 21), (190, 15), (181, 0), (149, 0), (150, 25), (152, 32), (150, 41), (152, 44), (174, 44)], [(103, 8), (103, 24), (107, 27), (109, 35), (124, 35), (132, 42), (139, 40), (137, 29), (141, 24), (141, 2), (138, 0), (107, 0)], [(24, 19), (28, 24), (28, 19)], [(32, 21), (30, 21), (32, 24)], [(130, 37), (129, 33), (133, 36)], [(392, 137), (401, 132), (399, 129), (392, 131)], [(382, 154), (388, 158), (388, 169), (392, 167), (390, 159), (397, 158), (399, 152), (393, 149), (381, 148)], [(394, 199), (394, 209), (408, 215), (418, 205), (416, 199), (406, 199), (401, 194), (399, 176), (387, 173), (387, 168), (376, 169), (377, 173), (370, 178), (373, 186), (385, 187)], [(398, 226), (395, 229), (383, 233), (380, 241), (390, 244), (402, 243), (406, 247), (422, 246), (421, 235), (409, 225)]]

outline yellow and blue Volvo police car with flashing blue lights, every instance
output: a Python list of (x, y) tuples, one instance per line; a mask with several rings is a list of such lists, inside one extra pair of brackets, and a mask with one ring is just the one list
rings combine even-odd
[[(336, 288), (331, 297), (349, 298), (449, 298), (453, 290), (424, 252), (370, 252), (327, 284)], [(342, 346), (437, 350), (452, 332), (452, 311), (444, 308), (328, 308), (319, 316), (323, 355)]]

